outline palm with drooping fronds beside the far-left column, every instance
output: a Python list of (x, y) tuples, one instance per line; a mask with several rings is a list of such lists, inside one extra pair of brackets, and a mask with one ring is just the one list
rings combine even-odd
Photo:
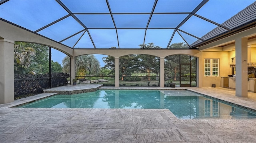
[(33, 64), (32, 57), (36, 51), (32, 47), (24, 47), (22, 42), (15, 42), (14, 45), (14, 73), (30, 73), (38, 71), (38, 67)]

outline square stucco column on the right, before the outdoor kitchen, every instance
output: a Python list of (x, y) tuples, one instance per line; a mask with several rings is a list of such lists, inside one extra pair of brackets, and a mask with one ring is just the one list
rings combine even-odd
[(236, 39), (236, 96), (247, 97), (247, 38)]

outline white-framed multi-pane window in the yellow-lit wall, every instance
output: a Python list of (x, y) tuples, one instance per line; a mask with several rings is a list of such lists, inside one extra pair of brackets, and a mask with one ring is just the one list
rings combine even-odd
[(219, 76), (219, 59), (204, 59), (204, 76)]

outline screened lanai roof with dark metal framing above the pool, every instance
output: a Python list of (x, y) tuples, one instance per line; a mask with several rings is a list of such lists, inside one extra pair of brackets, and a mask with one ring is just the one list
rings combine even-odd
[[(0, 18), (70, 48), (187, 48), (256, 21), (254, 0), (1, 0)], [(143, 47), (143, 46), (142, 46)]]

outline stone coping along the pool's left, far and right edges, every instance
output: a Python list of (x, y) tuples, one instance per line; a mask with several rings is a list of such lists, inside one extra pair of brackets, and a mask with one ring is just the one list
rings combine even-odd
[[(250, 108), (248, 106), (244, 106), (244, 105), (240, 105), (240, 104), (236, 104), (236, 103), (233, 103), (233, 102), (230, 102), (230, 101), (226, 101), (226, 100), (223, 100), (223, 99), (220, 99), (220, 98), (216, 98), (216, 97), (213, 97), (213, 96), (209, 96), (209, 95), (206, 95), (206, 94), (202, 94), (200, 92), (196, 92), (196, 91), (193, 91), (193, 90), (190, 90), (190, 89), (186, 89), (186, 88), (159, 88), (159, 87), (111, 87), (111, 86), (102, 86), (102, 85), (99, 85), (98, 87), (96, 88), (86, 88), (86, 89), (80, 89), (80, 90), (69, 90), (69, 91), (75, 91), (75, 92), (72, 92), (74, 94), (79, 94), (79, 93), (85, 93), (83, 91), (86, 91), (86, 92), (95, 92), (97, 90), (186, 90), (186, 91), (189, 91), (189, 92), (193, 92), (193, 93), (196, 93), (196, 94), (199, 94), (199, 95), (202, 95), (202, 96), (205, 96), (207, 98), (210, 98), (210, 99), (213, 99), (213, 100), (217, 100), (217, 101), (220, 101), (220, 102), (224, 102), (224, 103), (227, 103), (227, 104), (231, 104), (233, 106), (237, 106), (239, 108), (243, 108), (243, 109), (246, 109), (246, 110), (249, 110), (249, 111), (252, 111), (252, 112), (256, 112), (256, 109), (254, 108)], [(48, 90), (51, 90), (51, 89), (48, 89)], [(42, 100), (44, 98), (48, 98), (48, 97), (51, 97), (51, 96), (55, 96), (57, 94), (62, 94), (63, 92), (60, 92), (58, 93), (58, 91), (63, 91), (63, 90), (55, 90), (55, 89), (52, 89), (51, 90), (53, 93), (42, 93), (42, 94), (37, 94), (35, 96), (30, 96), (30, 97), (26, 97), (26, 98), (21, 98), (21, 99), (18, 99), (18, 100), (14, 100), (14, 102), (11, 102), (11, 103), (8, 103), (8, 104), (0, 104), (0, 107), (9, 107), (9, 108), (17, 108), (18, 106), (22, 106), (22, 105), (25, 105), (25, 104), (29, 104), (29, 103), (32, 103), (32, 102), (36, 102), (38, 100)], [(70, 92), (71, 93), (71, 92)], [(70, 94), (67, 94), (67, 95), (70, 95)]]

